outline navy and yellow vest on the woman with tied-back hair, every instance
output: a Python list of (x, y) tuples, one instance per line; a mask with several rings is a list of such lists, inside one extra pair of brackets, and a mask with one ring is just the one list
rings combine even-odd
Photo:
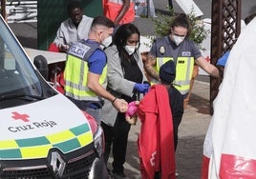
[[(175, 58), (173, 50), (171, 50), (168, 42), (168, 38), (169, 37), (165, 36), (155, 42), (157, 63), (155, 64), (154, 69), (159, 72), (161, 65), (169, 60), (174, 60), (176, 64), (176, 78), (173, 84), (175, 88), (184, 95), (189, 92), (195, 62), (190, 48), (190, 43), (192, 43), (192, 41), (182, 42), (180, 45), (181, 47), (178, 47), (180, 48), (177, 54), (178, 56)], [(157, 83), (154, 80), (152, 80), (152, 82)]]

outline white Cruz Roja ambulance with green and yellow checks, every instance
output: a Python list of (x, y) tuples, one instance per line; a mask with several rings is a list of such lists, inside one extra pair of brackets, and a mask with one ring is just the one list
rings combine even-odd
[(53, 89), (0, 16), (0, 178), (107, 178), (103, 131)]

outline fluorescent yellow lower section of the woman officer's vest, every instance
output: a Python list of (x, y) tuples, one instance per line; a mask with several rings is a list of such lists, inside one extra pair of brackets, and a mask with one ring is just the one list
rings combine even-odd
[[(171, 57), (157, 57), (157, 63), (154, 67), (158, 72), (160, 71), (160, 66), (169, 60), (174, 60)], [(176, 89), (178, 89), (181, 94), (186, 94), (189, 92), (190, 80), (192, 78), (194, 68), (194, 58), (193, 57), (178, 57), (176, 63), (176, 78), (173, 82)]]

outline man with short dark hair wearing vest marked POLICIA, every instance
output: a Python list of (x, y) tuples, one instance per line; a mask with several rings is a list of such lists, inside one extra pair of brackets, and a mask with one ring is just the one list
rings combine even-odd
[(108, 38), (114, 31), (113, 22), (97, 16), (89, 31), (88, 39), (76, 42), (67, 53), (64, 70), (65, 95), (75, 105), (91, 114), (98, 124), (101, 121), (103, 98), (111, 101), (120, 112), (125, 112), (127, 103), (117, 99), (102, 86), (106, 78), (107, 57), (100, 45), (108, 46)]

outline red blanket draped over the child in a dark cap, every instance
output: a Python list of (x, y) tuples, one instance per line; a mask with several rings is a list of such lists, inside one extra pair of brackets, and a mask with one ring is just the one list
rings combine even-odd
[(175, 150), (172, 113), (167, 89), (151, 87), (138, 108), (141, 128), (138, 139), (140, 170), (143, 179), (175, 179)]

